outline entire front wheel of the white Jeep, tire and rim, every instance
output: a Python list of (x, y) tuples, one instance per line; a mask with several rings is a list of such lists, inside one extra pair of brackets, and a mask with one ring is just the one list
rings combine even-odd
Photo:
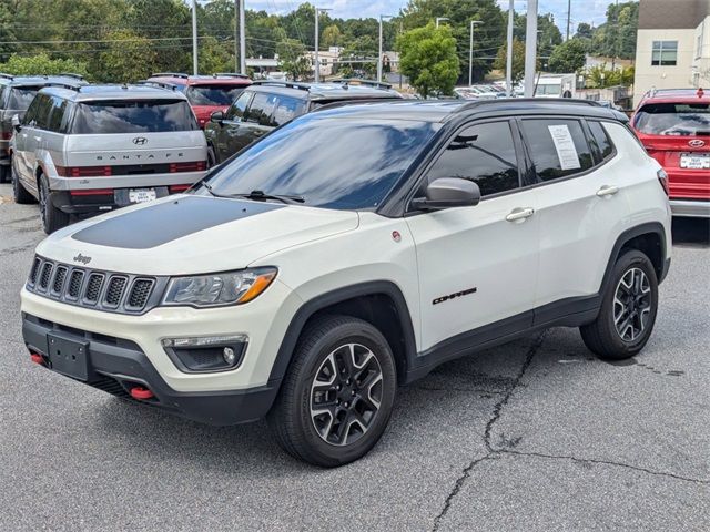
[(325, 316), (301, 335), (267, 422), (294, 458), (343, 466), (377, 443), (396, 389), (395, 359), (379, 330), (362, 319)]

